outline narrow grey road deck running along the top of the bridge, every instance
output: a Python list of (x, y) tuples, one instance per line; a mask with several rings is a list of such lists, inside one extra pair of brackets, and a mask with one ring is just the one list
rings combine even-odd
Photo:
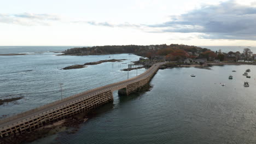
[(22, 122), (22, 120), (25, 120), (25, 119), (27, 120), (28, 118), (33, 118), (33, 116), (37, 116), (39, 114), (46, 113), (49, 111), (54, 111), (57, 108), (60, 109), (60, 107), (64, 107), (65, 105), (68, 105), (68, 104), (70, 105), (72, 103), (75, 103), (82, 98), (94, 97), (98, 93), (102, 93), (105, 91), (114, 92), (114, 91), (117, 91), (118, 89), (125, 88), (127, 85), (129, 85), (131, 83), (138, 82), (139, 80), (143, 80), (147, 76), (154, 74), (158, 70), (158, 68), (161, 64), (163, 64), (163, 63), (156, 63), (152, 67), (150, 67), (146, 72), (144, 72), (143, 74), (138, 75), (136, 77), (132, 77), (131, 79), (127, 79), (124, 81), (112, 83), (110, 85), (91, 89), (89, 91), (75, 94), (75, 95), (72, 95), (71, 97), (55, 101), (54, 103), (46, 104), (46, 105), (40, 106), (36, 109), (1, 119), (0, 120), (0, 131), (4, 130), (4, 128), (9, 127), (10, 125)]

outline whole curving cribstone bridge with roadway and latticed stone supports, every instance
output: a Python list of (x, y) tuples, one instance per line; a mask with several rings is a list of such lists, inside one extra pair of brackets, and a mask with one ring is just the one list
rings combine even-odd
[(77, 113), (88, 112), (102, 104), (113, 101), (113, 92), (119, 89), (126, 88), (127, 95), (136, 92), (152, 79), (161, 64), (163, 63), (156, 63), (145, 73), (131, 79), (91, 89), (90, 91), (75, 94), (54, 103), (1, 119), (0, 137), (19, 135), (50, 122), (58, 121)]

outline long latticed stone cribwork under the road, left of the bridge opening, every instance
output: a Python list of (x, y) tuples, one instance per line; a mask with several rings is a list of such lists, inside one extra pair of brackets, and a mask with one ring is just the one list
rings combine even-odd
[(96, 107), (108, 103), (109, 101), (113, 101), (112, 91), (96, 93), (91, 97), (75, 100), (72, 103), (56, 107), (56, 109), (38, 113), (38, 115), (33, 115), (32, 117), (22, 119), (17, 123), (12, 123), (6, 127), (2, 127), (0, 128), (0, 137), (26, 133), (39, 127), (43, 127), (43, 125), (50, 122), (59, 121), (77, 113), (88, 112)]

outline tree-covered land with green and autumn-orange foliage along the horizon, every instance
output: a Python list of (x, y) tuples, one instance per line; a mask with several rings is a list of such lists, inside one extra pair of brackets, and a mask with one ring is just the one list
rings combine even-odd
[(138, 56), (155, 58), (158, 56), (164, 56), (166, 61), (184, 61), (185, 59), (206, 59), (206, 61), (254, 61), (256, 55), (246, 48), (243, 52), (228, 53), (218, 51), (211, 51), (210, 49), (189, 46), (189, 45), (107, 45), (107, 46), (92, 46), (92, 47), (80, 47), (63, 51), (63, 55), (107, 55), (117, 53), (133, 53)]

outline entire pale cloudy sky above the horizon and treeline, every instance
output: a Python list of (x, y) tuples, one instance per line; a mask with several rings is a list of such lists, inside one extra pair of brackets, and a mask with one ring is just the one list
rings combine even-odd
[(2, 46), (256, 46), (256, 0), (0, 2)]

